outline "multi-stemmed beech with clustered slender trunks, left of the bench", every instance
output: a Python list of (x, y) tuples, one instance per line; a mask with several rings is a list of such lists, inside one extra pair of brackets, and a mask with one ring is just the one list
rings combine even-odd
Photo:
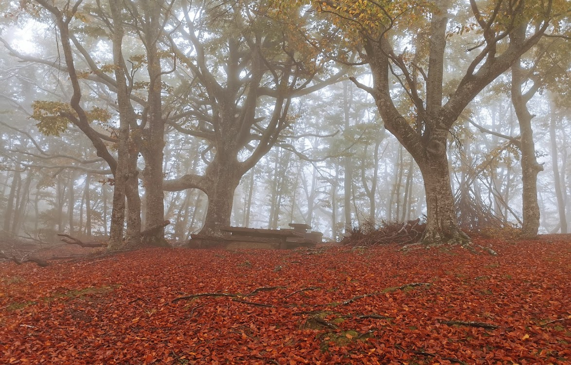
[[(22, 2), (22, 6), (35, 3), (47, 10), (55, 19), (58, 42), (64, 55), (64, 63), (58, 64), (19, 53), (3, 41), (10, 53), (25, 62), (52, 65), (69, 75), (73, 95), (65, 101), (37, 101), (33, 118), (44, 133), (57, 135), (67, 129), (68, 123), (77, 126), (93, 143), (99, 157), (110, 166), (113, 174), (114, 198), (111, 214), (110, 249), (123, 244), (137, 246), (144, 243), (163, 244), (163, 147), (164, 119), (162, 115), (160, 59), (164, 53), (158, 48), (159, 35), (170, 15), (173, 2), (166, 1), (110, 1), (83, 2), (79, 0), (50, 2), (38, 0)], [(124, 57), (124, 37), (142, 43), (144, 55)], [(107, 32), (107, 33), (106, 33)], [(136, 35), (136, 37), (133, 37)], [(86, 44), (90, 39), (111, 39), (111, 62), (94, 59)], [(128, 67), (127, 65), (130, 65)], [(148, 78), (135, 78), (139, 69), (147, 66)], [(114, 78), (109, 74), (114, 74)], [(85, 91), (82, 82), (95, 82), (106, 92), (116, 94), (119, 126), (111, 135), (93, 126), (94, 121), (108, 122), (111, 113), (100, 107), (86, 110)], [(108, 148), (112, 143), (116, 157)], [(145, 190), (145, 234), (141, 233), (141, 202), (139, 196), (139, 153), (145, 167), (142, 174)], [(127, 198), (127, 232), (123, 242)]]

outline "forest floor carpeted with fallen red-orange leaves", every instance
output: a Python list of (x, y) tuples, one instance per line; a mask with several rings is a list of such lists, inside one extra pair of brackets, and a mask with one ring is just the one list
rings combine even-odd
[(3, 262), (0, 364), (571, 364), (571, 240), (477, 243)]

